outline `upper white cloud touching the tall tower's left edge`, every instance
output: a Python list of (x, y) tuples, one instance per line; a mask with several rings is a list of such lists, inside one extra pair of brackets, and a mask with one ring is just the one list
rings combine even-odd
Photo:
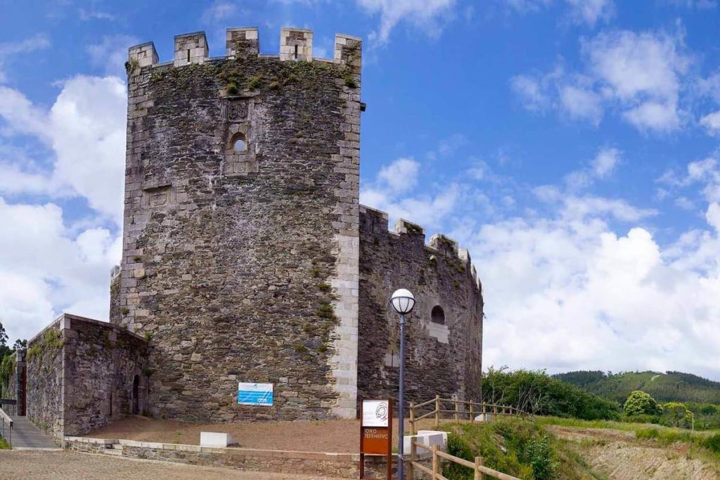
[(51, 172), (23, 170), (12, 159), (0, 159), (0, 170), (16, 179), (0, 181), (0, 194), (22, 193), (25, 186), (30, 194), (82, 196), (122, 225), (126, 109), (125, 83), (116, 77), (71, 78), (49, 111), (0, 86), (0, 118), (8, 132), (35, 135), (54, 153)]

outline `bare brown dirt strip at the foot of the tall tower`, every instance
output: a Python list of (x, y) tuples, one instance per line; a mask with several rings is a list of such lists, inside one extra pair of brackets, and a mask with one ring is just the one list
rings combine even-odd
[[(418, 428), (431, 429), (433, 425), (428, 420), (419, 422)], [(405, 431), (410, 432), (407, 422)], [(230, 433), (242, 448), (335, 453), (356, 453), (360, 448), (359, 420), (192, 424), (129, 417), (85, 436), (199, 445), (200, 432)]]

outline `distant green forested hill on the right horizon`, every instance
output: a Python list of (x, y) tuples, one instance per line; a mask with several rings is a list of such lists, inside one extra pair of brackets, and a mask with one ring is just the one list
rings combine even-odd
[(679, 371), (609, 375), (601, 371), (571, 371), (554, 377), (621, 404), (633, 390), (647, 391), (658, 402), (720, 404), (720, 382)]

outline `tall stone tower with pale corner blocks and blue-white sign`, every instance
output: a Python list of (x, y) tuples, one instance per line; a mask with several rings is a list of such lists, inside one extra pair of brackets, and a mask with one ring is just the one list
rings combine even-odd
[[(355, 415), (360, 41), (318, 60), (307, 30), (282, 30), (282, 58), (257, 39), (228, 30), (211, 59), (181, 35), (172, 63), (130, 48), (113, 321), (153, 337), (156, 416)], [(238, 381), (274, 384), (274, 406), (238, 405)]]

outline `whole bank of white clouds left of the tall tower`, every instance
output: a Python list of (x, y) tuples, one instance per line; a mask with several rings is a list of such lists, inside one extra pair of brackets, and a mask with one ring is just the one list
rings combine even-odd
[[(48, 155), (36, 162), (0, 142), (0, 320), (12, 338), (63, 311), (107, 319), (122, 245), (126, 101), (115, 77), (71, 78), (49, 109), (0, 86), (0, 140), (22, 135), (36, 141), (33, 155)], [(90, 210), (68, 224), (58, 203), (27, 203), (38, 195), (84, 199)]]

